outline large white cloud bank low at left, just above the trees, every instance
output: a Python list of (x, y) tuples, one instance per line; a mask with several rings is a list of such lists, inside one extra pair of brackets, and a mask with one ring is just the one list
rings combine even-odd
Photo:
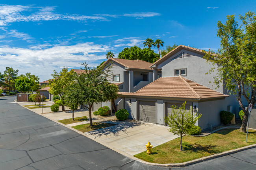
[[(49, 48), (47, 48), (49, 46)], [(43, 49), (45, 48), (45, 49)], [(50, 46), (41, 44), (30, 48), (0, 47), (0, 68), (6, 66), (19, 69), (19, 73), (31, 72), (41, 79), (49, 79), (53, 70), (63, 66), (81, 67), (79, 63), (87, 62), (89, 66), (95, 60), (106, 58), (108, 46), (86, 42), (72, 46)], [(4, 70), (0, 70), (4, 71)]]

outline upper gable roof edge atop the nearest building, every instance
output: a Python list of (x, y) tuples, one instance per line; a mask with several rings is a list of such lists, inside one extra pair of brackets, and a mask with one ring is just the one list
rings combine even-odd
[[(196, 53), (201, 53), (202, 55), (204, 55), (205, 53), (208, 53), (208, 52), (203, 52), (203, 50), (201, 50), (201, 49), (197, 49), (197, 48), (193, 48), (193, 47), (189, 47), (189, 46), (184, 46), (184, 45), (179, 45), (178, 47), (174, 48), (172, 51), (167, 53), (165, 56), (161, 57), (159, 60), (157, 60), (156, 62), (151, 64), (150, 67), (154, 66), (155, 64), (160, 64), (161, 62), (163, 62), (167, 58), (171, 57), (172, 54), (175, 54), (177, 51), (180, 51), (182, 49), (186, 49), (188, 51), (193, 51), (193, 52), (196, 52)], [(212, 53), (212, 55), (216, 55), (216, 54)]]

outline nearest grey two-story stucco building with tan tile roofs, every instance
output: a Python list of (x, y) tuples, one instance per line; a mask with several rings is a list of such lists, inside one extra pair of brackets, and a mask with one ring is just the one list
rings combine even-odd
[(197, 125), (206, 130), (221, 124), (222, 110), (238, 113), (236, 96), (228, 95), (222, 84), (217, 88), (212, 83), (217, 73), (206, 75), (210, 68), (218, 66), (206, 63), (203, 56), (200, 49), (180, 45), (151, 64), (154, 81), (135, 92), (121, 92), (119, 96), (130, 118), (165, 125), (171, 105), (180, 106), (186, 101), (188, 110), (193, 107), (202, 114)]

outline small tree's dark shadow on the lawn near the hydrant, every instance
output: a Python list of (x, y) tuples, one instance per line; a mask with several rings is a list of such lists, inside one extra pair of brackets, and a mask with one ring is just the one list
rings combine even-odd
[(200, 145), (200, 144), (185, 144), (185, 146), (183, 146), (182, 150), (186, 150), (186, 151), (191, 151), (191, 152), (195, 152), (195, 153), (200, 153), (200, 152), (206, 152), (208, 154), (217, 154), (219, 153), (218, 151), (215, 150), (215, 147), (217, 145)]

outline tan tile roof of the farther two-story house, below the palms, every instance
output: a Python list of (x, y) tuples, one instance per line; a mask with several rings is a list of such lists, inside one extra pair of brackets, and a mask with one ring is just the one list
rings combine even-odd
[(121, 59), (121, 58), (108, 58), (108, 60), (106, 62), (104, 62), (104, 64), (107, 64), (110, 61), (114, 61), (114, 62), (117, 62), (117, 63), (121, 64), (124, 67), (134, 68), (134, 69), (148, 69), (148, 70), (151, 70), (151, 68), (149, 68), (149, 67), (152, 64), (150, 62), (143, 61), (143, 60), (126, 60), (126, 59)]

